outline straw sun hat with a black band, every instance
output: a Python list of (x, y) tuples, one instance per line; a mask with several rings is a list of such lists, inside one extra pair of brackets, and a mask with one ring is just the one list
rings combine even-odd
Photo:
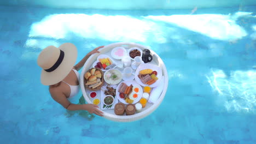
[(77, 61), (77, 47), (71, 43), (62, 44), (59, 48), (48, 46), (40, 52), (37, 64), (41, 67), (43, 85), (54, 85), (62, 81)]

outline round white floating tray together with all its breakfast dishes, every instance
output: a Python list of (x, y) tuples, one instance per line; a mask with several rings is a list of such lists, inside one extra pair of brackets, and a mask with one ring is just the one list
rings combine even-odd
[[(103, 117), (112, 121), (131, 122), (150, 115), (168, 86), (161, 58), (136, 43), (113, 43), (99, 51), (89, 57), (80, 75), (85, 100), (98, 105)], [(130, 63), (125, 64), (127, 61)]]

